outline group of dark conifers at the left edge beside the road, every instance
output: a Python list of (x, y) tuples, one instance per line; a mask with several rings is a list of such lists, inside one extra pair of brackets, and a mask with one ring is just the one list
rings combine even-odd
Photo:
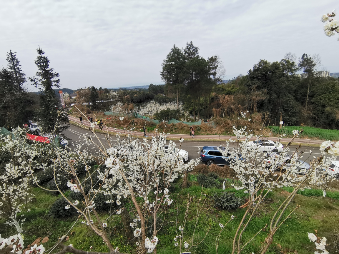
[(7, 53), (7, 68), (0, 71), (1, 125), (13, 129), (22, 127), (28, 120), (36, 120), (43, 133), (60, 134), (68, 128), (68, 117), (66, 111), (58, 107), (53, 90), (60, 87), (59, 73), (49, 66), (49, 60), (40, 47), (37, 53), (34, 63), (38, 70), (36, 76), (28, 80), (39, 88), (39, 95), (25, 89), (27, 79), (16, 52), (10, 50)]

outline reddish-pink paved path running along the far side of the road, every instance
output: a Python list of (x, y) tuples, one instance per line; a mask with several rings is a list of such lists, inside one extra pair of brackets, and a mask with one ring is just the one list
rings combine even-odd
[[(72, 115), (68, 115), (68, 118), (69, 120), (73, 121), (73, 122), (76, 122), (78, 123), (79, 125), (83, 126), (83, 127), (90, 127), (91, 124), (89, 122), (87, 122), (86, 120), (83, 120), (82, 124), (80, 123), (80, 120), (79, 118), (75, 118), (73, 117)], [(105, 130), (106, 130), (106, 127), (103, 127)], [(98, 128), (99, 129), (99, 128)], [(112, 127), (107, 127), (108, 131), (111, 131), (111, 132), (123, 132), (124, 130), (121, 130), (121, 129), (116, 129), (116, 128), (112, 128)], [(188, 129), (188, 128), (187, 128)], [(143, 136), (143, 132), (140, 132), (140, 131), (130, 131), (132, 132), (133, 135), (136, 135), (136, 136)], [(148, 134), (148, 135), (152, 135), (152, 134)], [(168, 139), (171, 139), (171, 138), (175, 138), (175, 139), (180, 139), (180, 138), (184, 138), (184, 139), (192, 139), (192, 137), (188, 134), (169, 134), (168, 135)], [(231, 138), (234, 138), (234, 136), (225, 136), (225, 135), (195, 135), (195, 138), (193, 138), (192, 140), (194, 139), (202, 139), (202, 140), (211, 140), (211, 141), (225, 141), (225, 140), (228, 140), (228, 139), (231, 139)], [(253, 138), (255, 139), (255, 137)], [(278, 137), (270, 137), (270, 140), (272, 141), (278, 141)], [(280, 139), (280, 142), (284, 142), (284, 143), (288, 143), (290, 142), (292, 139), (289, 138), (289, 137), (283, 137)], [(295, 139), (294, 140), (294, 143), (302, 143), (302, 144), (312, 144), (312, 145), (320, 145), (321, 143), (323, 142), (323, 140), (312, 140), (312, 139)]]

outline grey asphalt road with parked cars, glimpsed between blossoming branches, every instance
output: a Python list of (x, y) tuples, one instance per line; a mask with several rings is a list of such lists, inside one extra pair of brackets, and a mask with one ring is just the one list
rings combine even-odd
[[(82, 136), (82, 134), (86, 134), (87, 136), (91, 135), (93, 136), (93, 133), (91, 133), (90, 130), (86, 130), (86, 129), (82, 129), (80, 127), (71, 125), (69, 127), (68, 130), (65, 131), (65, 135), (71, 139), (69, 140), (69, 146), (72, 147), (72, 142), (75, 141), (79, 141), (79, 136)], [(108, 147), (108, 144), (106, 143), (106, 140), (104, 139), (104, 135), (101, 133), (97, 133), (100, 141), (102, 142), (102, 144), (105, 147)], [(83, 138), (81, 138), (80, 140), (83, 140)], [(93, 141), (97, 144), (100, 145), (100, 142), (94, 138)], [(111, 141), (112, 144), (116, 143), (116, 137), (115, 135), (111, 135)], [(177, 146), (179, 147), (180, 142), (179, 141), (174, 141), (177, 143)], [(203, 146), (224, 146), (225, 142), (215, 142), (215, 141), (195, 141), (195, 140), (190, 140), (190, 138), (184, 139), (184, 142), (182, 142), (180, 149), (186, 150), (188, 151), (188, 160), (191, 159), (195, 159), (197, 158), (198, 155), (198, 148), (200, 148), (200, 150), (202, 149)], [(94, 151), (97, 150), (96, 148), (92, 148), (93, 146), (90, 146), (90, 148)], [(292, 146), (291, 151), (288, 154), (292, 154), (293, 151), (295, 151), (295, 149), (297, 148), (297, 146)], [(312, 150), (312, 156), (310, 155), (310, 150)], [(303, 145), (299, 151), (304, 151), (304, 155), (303, 158), (301, 160), (306, 161), (306, 162), (310, 162), (313, 159), (313, 156), (320, 156), (320, 150), (319, 147), (307, 147), (307, 145)]]

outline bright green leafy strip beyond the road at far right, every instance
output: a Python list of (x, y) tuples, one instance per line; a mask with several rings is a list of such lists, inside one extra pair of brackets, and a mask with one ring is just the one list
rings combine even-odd
[(279, 126), (268, 126), (274, 134), (286, 134), (292, 136), (292, 131), (301, 130), (304, 131), (300, 134), (300, 137), (317, 137), (320, 140), (339, 140), (339, 130), (327, 130), (308, 126), (284, 126), (280, 129)]

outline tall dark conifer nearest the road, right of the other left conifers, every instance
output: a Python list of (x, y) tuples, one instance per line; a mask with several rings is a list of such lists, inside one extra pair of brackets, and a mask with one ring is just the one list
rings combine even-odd
[(38, 71), (36, 77), (29, 78), (32, 85), (42, 91), (37, 118), (43, 132), (60, 134), (69, 125), (66, 111), (58, 109), (58, 101), (53, 90), (53, 87), (60, 87), (59, 73), (54, 72), (54, 69), (49, 67), (49, 60), (44, 56), (45, 52), (40, 47), (37, 52), (38, 57), (34, 63), (37, 65)]

